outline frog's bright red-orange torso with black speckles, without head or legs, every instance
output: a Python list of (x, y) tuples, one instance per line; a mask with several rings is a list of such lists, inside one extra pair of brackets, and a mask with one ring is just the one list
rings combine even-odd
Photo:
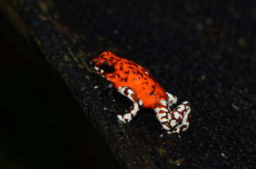
[(108, 79), (114, 87), (128, 86), (143, 101), (143, 107), (154, 108), (162, 99), (167, 99), (165, 90), (153, 75), (142, 66), (120, 58), (115, 62), (115, 72)]

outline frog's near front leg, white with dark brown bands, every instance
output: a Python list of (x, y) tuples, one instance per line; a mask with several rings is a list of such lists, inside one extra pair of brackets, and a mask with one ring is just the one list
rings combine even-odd
[(118, 115), (117, 117), (119, 120), (121, 120), (124, 123), (128, 123), (132, 120), (132, 118), (137, 114), (137, 112), (140, 110), (143, 102), (136, 96), (133, 90), (131, 90), (129, 87), (119, 87), (117, 90), (123, 94), (124, 96), (128, 97), (131, 101), (134, 102), (134, 104), (131, 106), (129, 111), (122, 115)]

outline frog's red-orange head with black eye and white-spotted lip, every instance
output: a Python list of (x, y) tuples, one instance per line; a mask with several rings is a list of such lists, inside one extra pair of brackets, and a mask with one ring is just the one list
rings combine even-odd
[(113, 54), (109, 51), (103, 52), (92, 60), (93, 68), (103, 77), (106, 77), (107, 74), (114, 73), (115, 71), (111, 55)]

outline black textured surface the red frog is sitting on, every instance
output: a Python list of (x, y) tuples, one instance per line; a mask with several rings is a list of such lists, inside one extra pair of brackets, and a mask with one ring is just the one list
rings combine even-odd
[[(123, 167), (256, 167), (256, 4), (19, 2), (12, 4)], [(104, 50), (149, 69), (178, 103), (190, 101), (188, 130), (160, 138), (148, 109), (118, 123), (116, 113), (132, 103), (105, 91), (108, 82), (92, 71), (89, 62)]]

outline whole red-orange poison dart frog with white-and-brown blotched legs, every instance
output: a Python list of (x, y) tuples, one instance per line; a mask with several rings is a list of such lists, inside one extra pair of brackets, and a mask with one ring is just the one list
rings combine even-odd
[[(134, 104), (127, 113), (117, 116), (120, 121), (130, 122), (140, 108), (144, 107), (154, 109), (158, 121), (168, 130), (167, 134), (187, 130), (191, 114), (190, 103), (184, 101), (171, 111), (169, 106), (177, 102), (177, 97), (166, 92), (146, 68), (115, 56), (110, 51), (95, 57), (92, 66), (112, 83), (110, 87), (133, 101)], [(180, 121), (181, 124), (178, 124)]]

